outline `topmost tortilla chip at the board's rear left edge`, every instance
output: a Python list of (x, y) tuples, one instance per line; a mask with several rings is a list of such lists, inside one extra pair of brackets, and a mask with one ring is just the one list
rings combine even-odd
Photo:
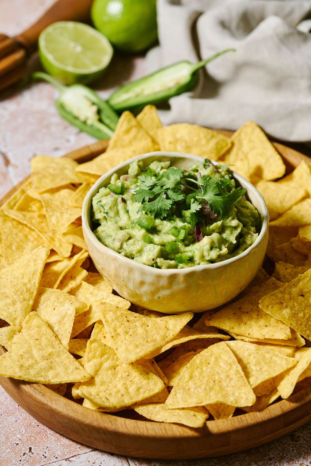
[(76, 174), (77, 162), (71, 158), (33, 157), (31, 164), (31, 182), (38, 192), (59, 188), (71, 183), (80, 183)]

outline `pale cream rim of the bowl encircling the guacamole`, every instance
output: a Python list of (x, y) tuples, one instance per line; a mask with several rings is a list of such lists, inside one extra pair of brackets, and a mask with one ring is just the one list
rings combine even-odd
[[(226, 267), (226, 266), (230, 265), (232, 262), (235, 262), (236, 260), (243, 259), (247, 254), (250, 254), (250, 252), (253, 249), (255, 249), (256, 247), (259, 246), (259, 244), (263, 240), (263, 237), (265, 236), (265, 233), (267, 232), (268, 225), (269, 225), (268, 207), (267, 207), (267, 205), (265, 203), (265, 200), (263, 199), (263, 196), (256, 189), (256, 187), (254, 185), (252, 185), (246, 178), (244, 178), (242, 175), (240, 175), (239, 173), (237, 173), (234, 170), (231, 170), (231, 172), (233, 174), (233, 178), (237, 179), (239, 181), (239, 183), (242, 185), (242, 187), (245, 187), (245, 188), (247, 188), (247, 190), (253, 192), (259, 198), (259, 201), (261, 201), (262, 206), (263, 206), (263, 212), (261, 213), (261, 217), (262, 217), (261, 231), (260, 231), (258, 237), (256, 238), (255, 242), (250, 247), (248, 247), (245, 251), (243, 251), (241, 254), (239, 254), (239, 255), (237, 255), (235, 257), (231, 257), (229, 259), (222, 260), (221, 262), (216, 262), (214, 264), (202, 264), (202, 265), (199, 264), (199, 265), (195, 265), (193, 267), (187, 267), (187, 268), (161, 269), (161, 268), (156, 268), (156, 267), (150, 267), (149, 265), (141, 264), (140, 262), (136, 262), (133, 259), (130, 259), (129, 257), (125, 257), (122, 254), (117, 253), (116, 251), (114, 251), (110, 247), (107, 247), (103, 243), (101, 243), (97, 239), (95, 234), (92, 232), (92, 230), (90, 228), (90, 224), (89, 224), (88, 207), (89, 207), (89, 205), (91, 203), (91, 199), (98, 192), (98, 190), (101, 187), (103, 187), (102, 185), (104, 184), (104, 181), (107, 178), (110, 178), (116, 171), (124, 168), (125, 166), (127, 166), (127, 165), (129, 165), (132, 162), (135, 162), (137, 160), (138, 161), (145, 160), (146, 158), (155, 157), (155, 156), (157, 156), (157, 157), (158, 156), (159, 157), (166, 157), (166, 158), (188, 158), (188, 159), (194, 160), (194, 162), (204, 160), (202, 157), (199, 157), (199, 156), (196, 156), (196, 155), (193, 155), (193, 154), (187, 154), (187, 153), (184, 153), (184, 152), (170, 152), (170, 151), (147, 152), (145, 154), (141, 154), (141, 155), (138, 155), (136, 157), (130, 158), (128, 160), (125, 160), (124, 162), (122, 162), (121, 164), (116, 165), (111, 170), (107, 171), (107, 173), (104, 173), (104, 175), (102, 175), (100, 178), (98, 178), (96, 183), (94, 183), (94, 185), (90, 187), (90, 190), (88, 191), (88, 193), (86, 194), (86, 196), (84, 198), (83, 206), (82, 206), (82, 215), (81, 216), (82, 216), (83, 235), (84, 236), (87, 235), (88, 239), (92, 243), (96, 243), (95, 246), (98, 247), (101, 250), (102, 254), (107, 254), (107, 253), (112, 254), (113, 256), (117, 257), (121, 261), (125, 260), (124, 267), (126, 267), (127, 261), (130, 260), (131, 264), (135, 263), (135, 265), (137, 267), (143, 267), (142, 272), (144, 270), (146, 271), (145, 267), (148, 267), (148, 269), (150, 271), (152, 270), (154, 274), (173, 275), (173, 274), (176, 274), (176, 273), (178, 273), (178, 274), (189, 274), (189, 273), (192, 273), (192, 272), (195, 272), (195, 271), (200, 272), (202, 270), (205, 270), (206, 268), (216, 269), (216, 268)], [(219, 162), (216, 162), (214, 160), (211, 160), (211, 162), (213, 164), (219, 164)]]

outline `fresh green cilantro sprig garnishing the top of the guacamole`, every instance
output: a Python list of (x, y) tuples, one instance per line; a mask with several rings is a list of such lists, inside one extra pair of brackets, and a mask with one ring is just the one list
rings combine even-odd
[(143, 173), (134, 201), (141, 203), (142, 210), (155, 219), (165, 219), (174, 209), (180, 208), (181, 212), (188, 212), (187, 221), (194, 228), (197, 222), (202, 224), (207, 210), (220, 219), (228, 218), (245, 192), (242, 187), (232, 189), (229, 178), (208, 175), (197, 178), (191, 171), (169, 167), (159, 175), (152, 170)]

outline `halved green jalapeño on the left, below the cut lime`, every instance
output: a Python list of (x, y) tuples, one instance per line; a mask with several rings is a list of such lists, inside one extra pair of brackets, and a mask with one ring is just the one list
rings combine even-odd
[(119, 117), (96, 92), (83, 84), (63, 86), (46, 73), (36, 72), (32, 77), (44, 79), (60, 91), (56, 108), (69, 123), (97, 139), (107, 139), (113, 135)]

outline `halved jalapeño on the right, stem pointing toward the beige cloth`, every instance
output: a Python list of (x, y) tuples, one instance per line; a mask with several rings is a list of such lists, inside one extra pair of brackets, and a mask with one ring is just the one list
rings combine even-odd
[(222, 50), (198, 63), (186, 60), (173, 63), (173, 65), (161, 68), (144, 78), (124, 84), (109, 97), (107, 102), (115, 110), (123, 111), (148, 103), (159, 103), (173, 96), (178, 96), (194, 88), (198, 81), (197, 71), (200, 68), (220, 55), (231, 51), (235, 51), (235, 49)]

